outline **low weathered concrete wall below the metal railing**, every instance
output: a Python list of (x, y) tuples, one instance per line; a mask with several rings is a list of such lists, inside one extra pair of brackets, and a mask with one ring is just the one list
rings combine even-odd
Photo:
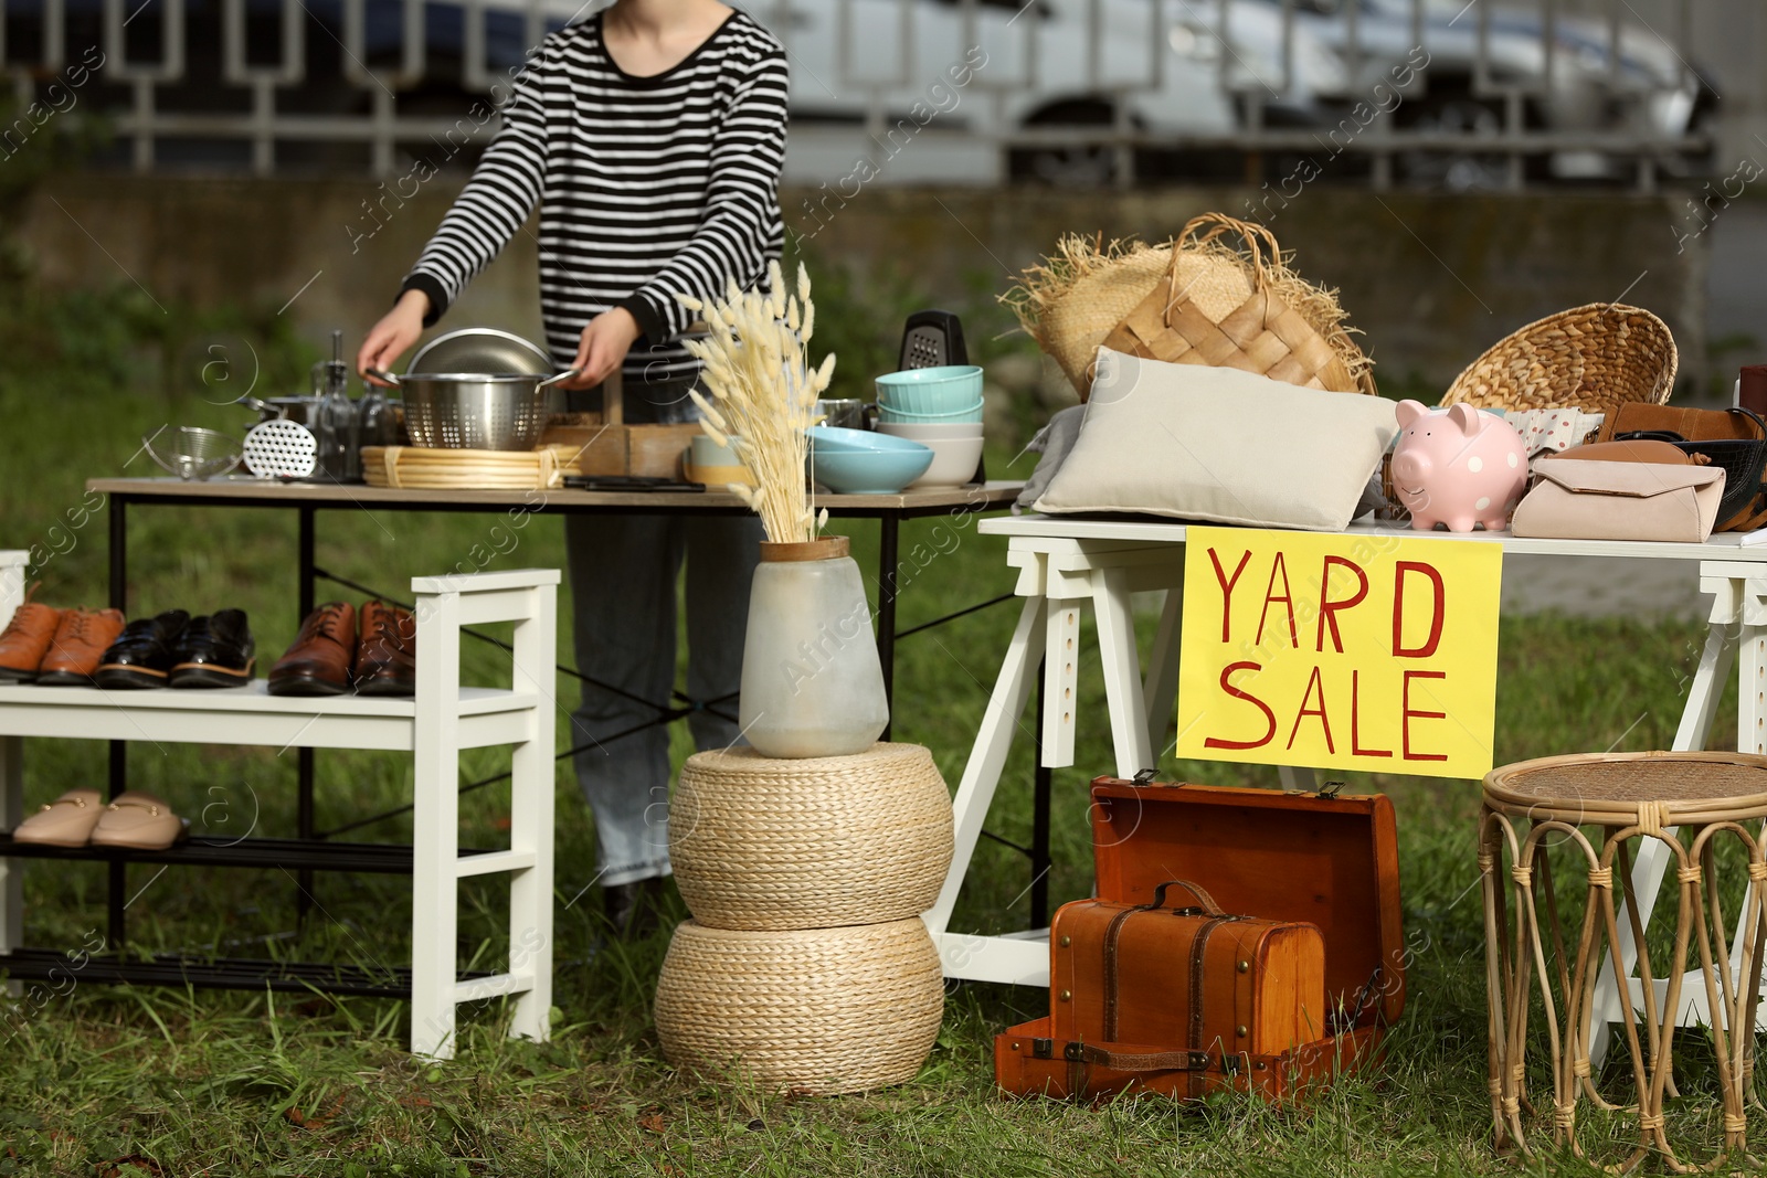
[[(1279, 182), (1272, 182), (1274, 193)], [(1290, 184), (1290, 191), (1297, 185)], [(320, 341), (357, 339), (447, 210), (456, 185), (410, 201), (366, 182), (72, 175), (37, 191), (16, 237), (57, 288), (140, 283), (161, 300), (283, 309)], [(382, 198), (369, 215), (364, 201)], [(1248, 203), (1258, 200), (1253, 212)], [(1705, 359), (1710, 238), (1686, 198), (1421, 196), (1313, 185), (1290, 201), (1244, 189), (1131, 194), (866, 189), (788, 193), (793, 233), (825, 258), (906, 268), (931, 297), (1005, 290), (1064, 231), (1164, 238), (1210, 208), (1258, 214), (1297, 268), (1338, 286), (1376, 374), (1445, 387), (1488, 344), (1553, 311), (1626, 302), (1675, 332), (1684, 376)], [(518, 235), (445, 327), (539, 334), (535, 242)]]

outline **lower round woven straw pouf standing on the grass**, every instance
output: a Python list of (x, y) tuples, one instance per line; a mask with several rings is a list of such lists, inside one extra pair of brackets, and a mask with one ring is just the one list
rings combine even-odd
[(919, 918), (855, 929), (737, 933), (686, 920), (657, 978), (663, 1054), (677, 1067), (809, 1095), (914, 1079), (945, 1008)]

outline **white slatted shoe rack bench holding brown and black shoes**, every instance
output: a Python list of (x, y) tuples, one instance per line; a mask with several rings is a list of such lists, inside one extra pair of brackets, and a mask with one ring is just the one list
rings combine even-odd
[[(23, 602), (23, 551), (0, 551), (0, 625)], [(14, 982), (74, 977), (94, 982), (309, 987), (408, 998), (412, 1051), (454, 1054), (456, 1007), (511, 994), (511, 1035), (544, 1040), (553, 957), (553, 659), (557, 569), (415, 578), (422, 675), (413, 699), (270, 696), (265, 682), (210, 691), (115, 692), (97, 687), (0, 685), (0, 832), (23, 816), (25, 738), (265, 745), (270, 749), (380, 749), (413, 765), (412, 846), (322, 839), (193, 837), (166, 851), (48, 848), (0, 834), (0, 971)], [(509, 687), (461, 687), (461, 627), (514, 623)], [(459, 846), (459, 752), (509, 745), (511, 832), (504, 850)], [(58, 782), (72, 784), (72, 782)], [(27, 858), (209, 867), (286, 867), (412, 876), (412, 963), (362, 970), (325, 963), (184, 959), (80, 954), (25, 945), (21, 869)], [(458, 883), (507, 872), (509, 963), (500, 973), (458, 968)], [(115, 904), (113, 888), (113, 904)], [(120, 927), (120, 913), (111, 913)]]

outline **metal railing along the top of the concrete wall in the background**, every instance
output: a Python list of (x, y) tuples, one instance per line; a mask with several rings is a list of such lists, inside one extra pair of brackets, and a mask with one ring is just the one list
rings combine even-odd
[[(1718, 2), (1718, 0), (1707, 0)], [(793, 72), (790, 178), (1520, 187), (1696, 173), (1695, 0), (758, 0)], [(16, 97), (102, 109), (138, 171), (394, 177), (495, 129), (569, 0), (0, 0)], [(465, 159), (454, 155), (468, 148)], [(436, 161), (431, 161), (436, 162)]]

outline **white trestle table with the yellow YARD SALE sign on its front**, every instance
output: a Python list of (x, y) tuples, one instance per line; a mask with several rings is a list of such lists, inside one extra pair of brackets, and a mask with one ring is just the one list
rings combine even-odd
[[(1071, 699), (1076, 685), (1081, 657), (1080, 615), (1087, 606), (1097, 618), (1099, 659), (1115, 749), (1113, 768), (1119, 777), (1134, 777), (1138, 770), (1157, 765), (1166, 728), (1175, 714), (1187, 528), (1182, 523), (1149, 517), (1020, 516), (982, 521), (977, 532), (1009, 537), (1007, 563), (1018, 570), (1016, 593), (1025, 604), (958, 786), (956, 855), (944, 892), (926, 913), (926, 922), (940, 945), (945, 977), (1041, 987), (1050, 984), (1048, 929), (1020, 936), (951, 933), (951, 913), (1000, 782), (1018, 717), (1034, 687), (1041, 685), (1043, 698), (1037, 708), (1039, 775), (1074, 763), (1074, 733), (1081, 712), (1066, 706), (1064, 701)], [(1507, 532), (1414, 532), (1405, 525), (1364, 523), (1352, 525), (1345, 535), (1407, 535), (1444, 544), (1498, 544), (1505, 563), (1513, 555), (1624, 556), (1684, 563), (1689, 597), (1696, 592), (1712, 593), (1712, 606), (1705, 646), (1687, 687), (1673, 749), (1705, 749), (1719, 696), (1735, 673), (1737, 751), (1767, 754), (1767, 544), (1758, 542), (1763, 539), (1762, 533), (1721, 532), (1705, 544), (1668, 544), (1541, 540)], [(1166, 593), (1145, 675), (1131, 611), (1131, 595), (1136, 592)], [(1050, 653), (1046, 661), (1044, 653)], [(1039, 664), (1043, 664), (1041, 678)], [(1286, 788), (1311, 788), (1309, 768), (1279, 766), (1279, 770)], [(1048, 821), (1046, 809), (1039, 811), (1037, 821)], [(1663, 883), (1668, 858), (1659, 842), (1650, 842), (1636, 860), (1633, 885), (1643, 922), (1650, 918), (1650, 906)], [(1642, 1003), (1642, 984), (1631, 973), (1638, 948), (1629, 925), (1620, 927), (1619, 940), (1627, 977), (1622, 982), (1613, 977), (1612, 964), (1603, 966), (1596, 994), (1596, 1031), (1590, 1042), (1590, 1056), (1596, 1060), (1606, 1046), (1608, 1023), (1624, 1017), (1620, 991), (1629, 987), (1633, 1001)], [(1740, 941), (1739, 929), (1735, 943)], [(1657, 985), (1665, 987), (1666, 982), (1659, 978)], [(1709, 1019), (1703, 989), (1689, 989), (1687, 1001), (1675, 1016), (1682, 1026)], [(1767, 1023), (1767, 1003), (1762, 1003), (1762, 1021)]]

